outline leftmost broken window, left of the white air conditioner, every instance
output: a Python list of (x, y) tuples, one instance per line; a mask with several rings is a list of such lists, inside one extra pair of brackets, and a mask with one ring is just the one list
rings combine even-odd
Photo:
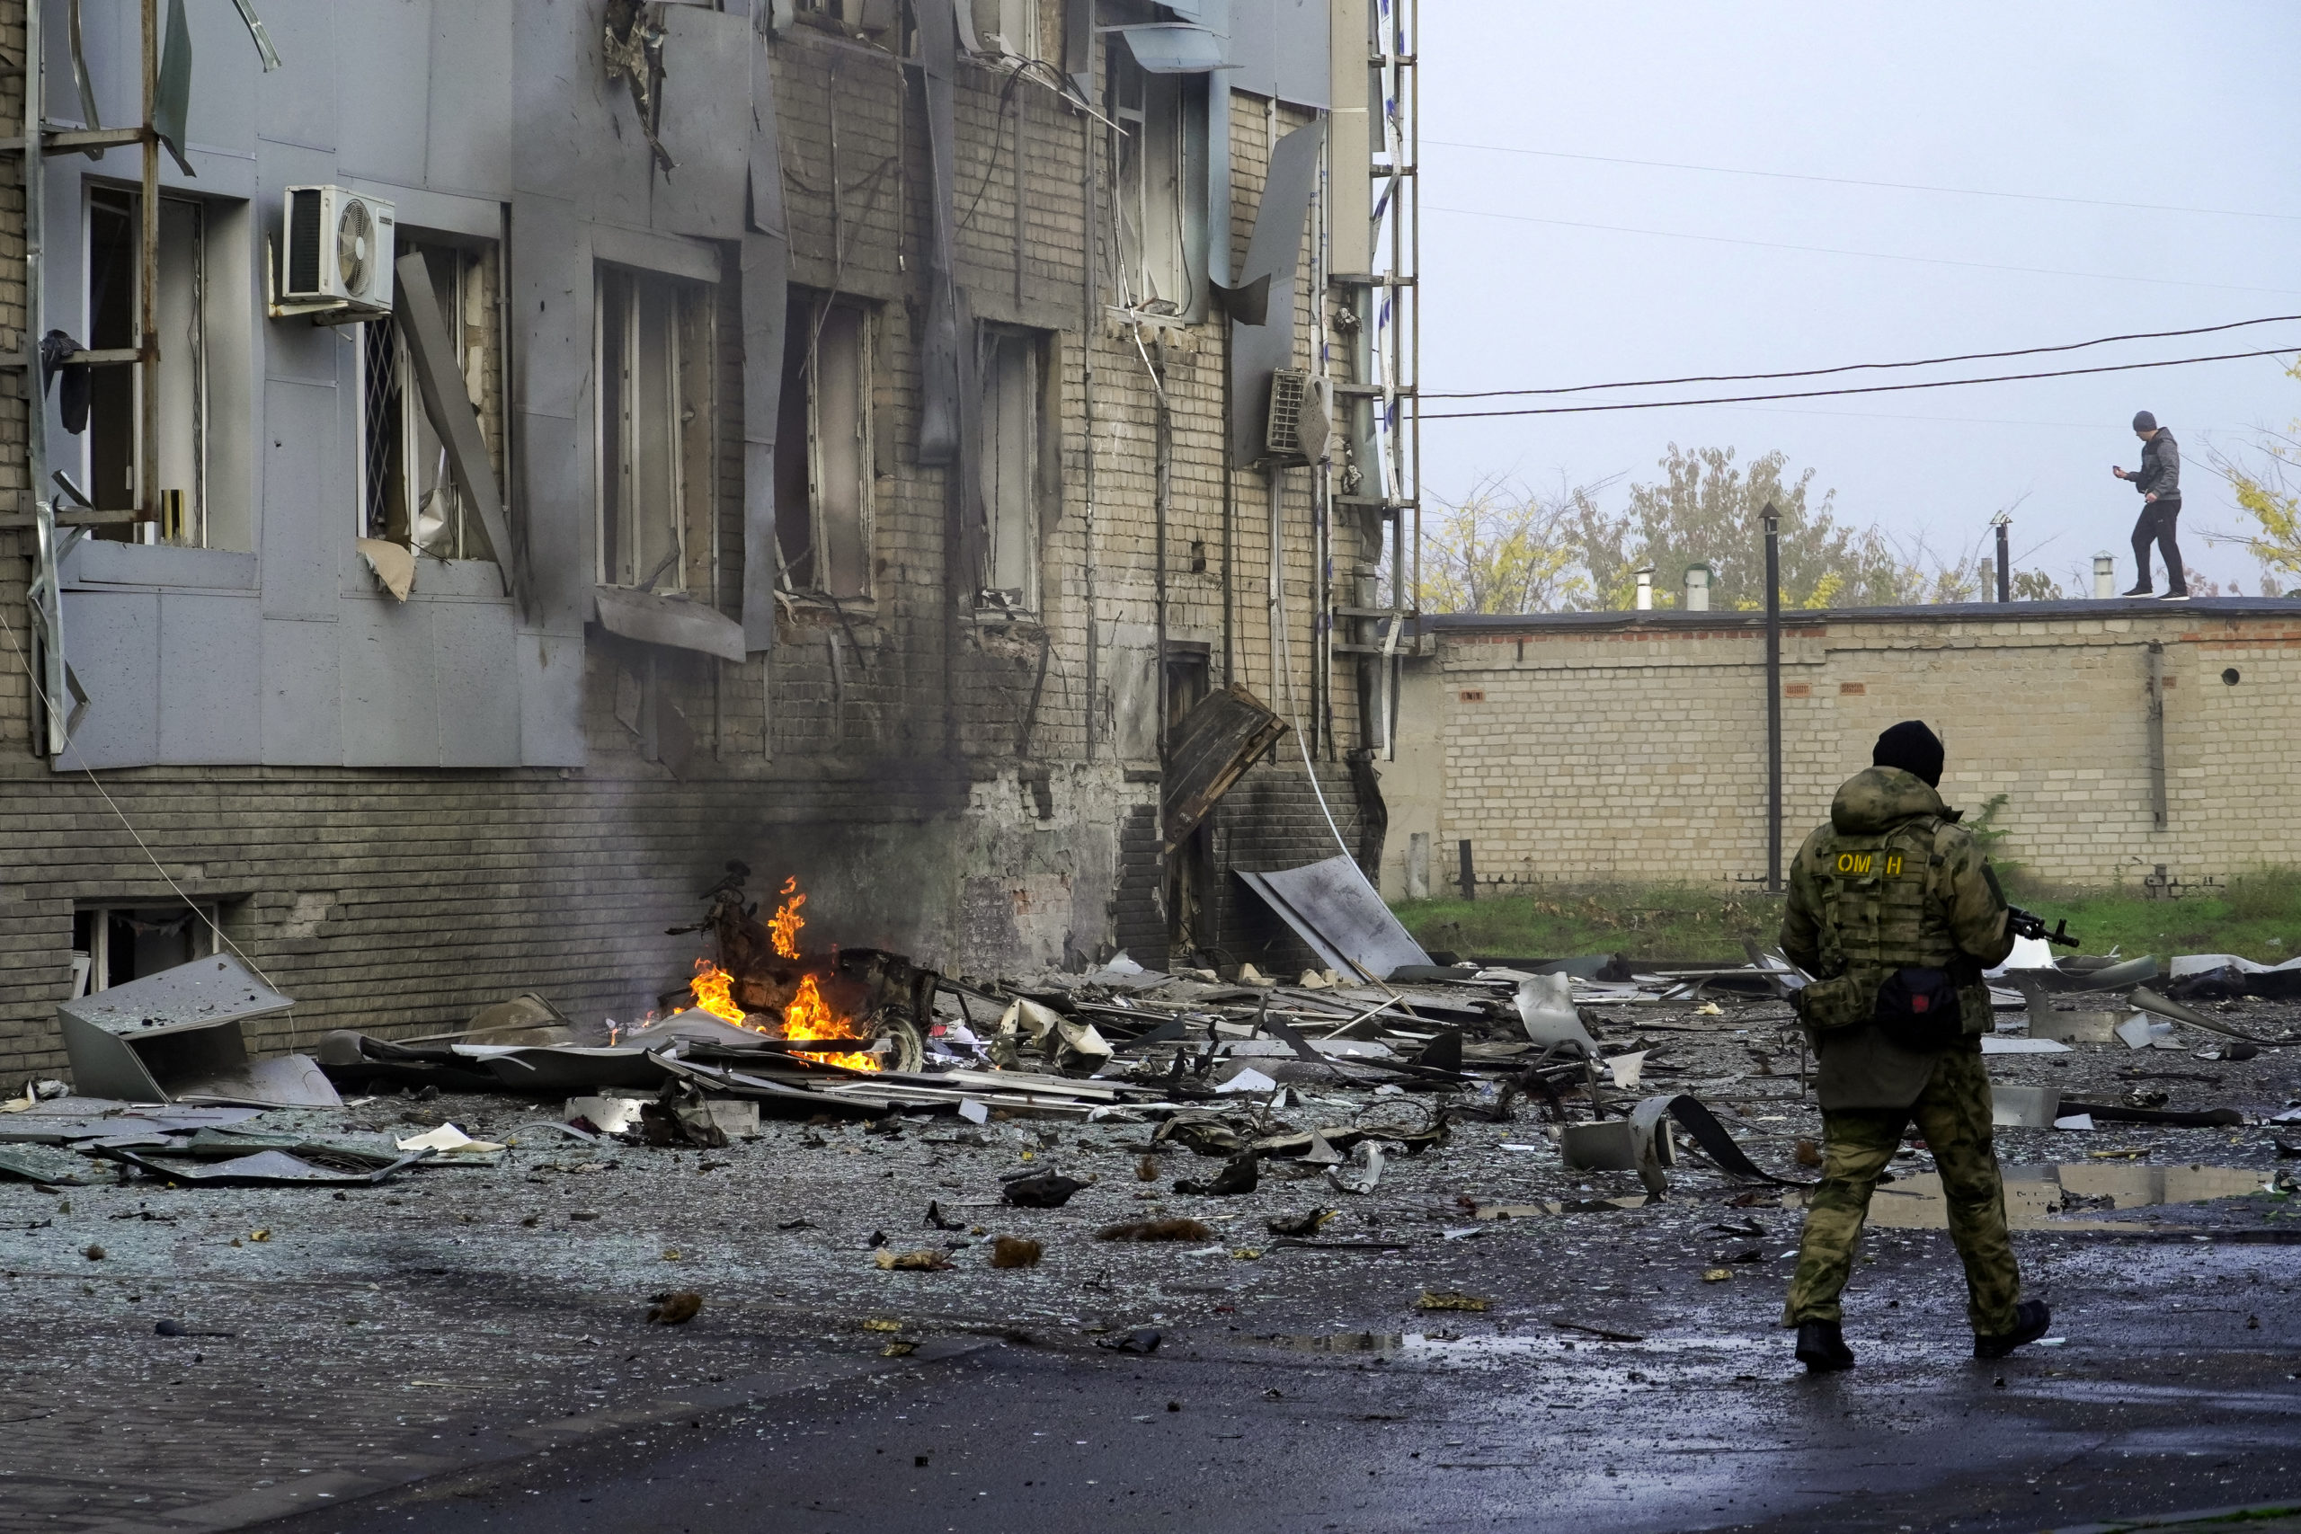
[[(99, 186), (87, 193), (87, 347), (140, 345), (138, 251), (143, 198)], [(145, 465), (143, 368), (90, 370), (87, 494), (101, 511), (150, 504), (159, 522), (104, 524), (99, 538), (207, 545), (207, 207), (159, 200), (159, 391), (156, 462)], [(154, 494), (145, 497), (150, 483)]]

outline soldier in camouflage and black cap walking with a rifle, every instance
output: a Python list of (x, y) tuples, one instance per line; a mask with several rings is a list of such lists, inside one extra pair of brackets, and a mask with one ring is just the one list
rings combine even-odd
[(2004, 1357), (2050, 1322), (2043, 1302), (2020, 1299), (1981, 1067), (1981, 971), (2013, 950), (2006, 902), (1974, 833), (1942, 805), (1940, 738), (1910, 720), (1878, 736), (1871, 761), (1797, 849), (1781, 920), (1783, 952), (1813, 975), (1797, 1012), (1820, 1056), (1827, 1143), (1783, 1325), (1818, 1373), (1852, 1368), (1838, 1295), (1910, 1120), (1942, 1175), (1974, 1357)]

